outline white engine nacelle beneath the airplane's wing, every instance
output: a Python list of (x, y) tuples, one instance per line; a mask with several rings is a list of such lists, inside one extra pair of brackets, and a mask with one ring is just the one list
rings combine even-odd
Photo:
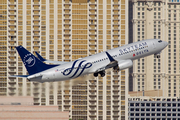
[(130, 68), (132, 66), (133, 66), (132, 60), (124, 60), (123, 62), (121, 61), (118, 63), (119, 70)]

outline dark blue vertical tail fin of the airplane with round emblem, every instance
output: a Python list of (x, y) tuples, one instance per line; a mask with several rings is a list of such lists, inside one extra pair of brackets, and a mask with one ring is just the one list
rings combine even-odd
[(32, 53), (27, 51), (24, 47), (18, 46), (16, 47), (22, 62), (24, 63), (29, 75), (50, 69), (57, 65), (47, 65), (37, 59)]

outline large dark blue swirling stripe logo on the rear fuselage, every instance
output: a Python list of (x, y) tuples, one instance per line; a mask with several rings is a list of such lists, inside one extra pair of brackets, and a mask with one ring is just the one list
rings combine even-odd
[(92, 66), (92, 63), (86, 62), (86, 60), (80, 61), (76, 60), (74, 61), (73, 65), (71, 68), (65, 69), (62, 73), (64, 76), (68, 76), (72, 73), (70, 78), (79, 77), (85, 69), (90, 68)]

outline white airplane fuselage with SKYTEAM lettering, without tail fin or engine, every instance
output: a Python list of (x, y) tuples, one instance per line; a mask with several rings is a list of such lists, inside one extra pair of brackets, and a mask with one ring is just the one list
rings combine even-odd
[[(160, 53), (167, 42), (158, 42), (158, 39), (143, 40), (107, 52), (116, 60), (135, 60), (148, 55)], [(33, 74), (28, 77), (30, 81), (48, 82), (69, 80), (81, 75), (91, 74), (108, 65), (110, 60), (105, 52), (81, 58), (57, 67)]]

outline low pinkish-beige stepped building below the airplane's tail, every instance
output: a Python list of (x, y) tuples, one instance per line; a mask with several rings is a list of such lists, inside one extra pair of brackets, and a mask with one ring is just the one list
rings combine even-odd
[(35, 106), (33, 97), (0, 97), (0, 120), (68, 120), (69, 112), (58, 106)]

